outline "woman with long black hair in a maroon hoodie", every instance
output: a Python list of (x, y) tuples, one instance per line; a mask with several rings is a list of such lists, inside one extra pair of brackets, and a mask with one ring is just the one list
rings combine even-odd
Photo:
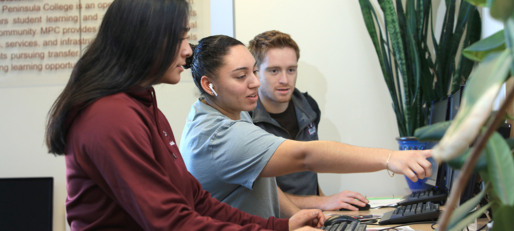
[(211, 198), (187, 171), (152, 86), (180, 80), (191, 55), (189, 8), (185, 0), (115, 0), (53, 104), (46, 143), (65, 155), (71, 229), (319, 226), (315, 209), (289, 220), (243, 213)]

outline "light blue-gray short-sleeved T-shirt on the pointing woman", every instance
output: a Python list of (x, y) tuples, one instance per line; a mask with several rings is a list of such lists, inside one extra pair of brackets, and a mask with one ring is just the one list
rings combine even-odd
[(285, 140), (253, 125), (246, 111), (234, 121), (197, 100), (186, 120), (180, 153), (212, 197), (252, 215), (280, 217), (275, 178), (258, 176)]

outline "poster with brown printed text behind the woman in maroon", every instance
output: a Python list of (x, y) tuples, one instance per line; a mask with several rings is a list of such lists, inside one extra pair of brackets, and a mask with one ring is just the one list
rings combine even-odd
[[(113, 0), (0, 0), (0, 87), (65, 85)], [(209, 0), (188, 0), (190, 43), (210, 34)]]

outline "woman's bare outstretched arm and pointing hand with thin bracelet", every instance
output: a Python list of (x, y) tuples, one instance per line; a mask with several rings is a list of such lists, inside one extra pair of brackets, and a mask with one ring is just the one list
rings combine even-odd
[(416, 182), (432, 175), (432, 164), (427, 161), (431, 150), (391, 151), (364, 148), (334, 141), (286, 140), (275, 150), (260, 177), (275, 177), (291, 172), (350, 173), (373, 172), (386, 169), (406, 175)]

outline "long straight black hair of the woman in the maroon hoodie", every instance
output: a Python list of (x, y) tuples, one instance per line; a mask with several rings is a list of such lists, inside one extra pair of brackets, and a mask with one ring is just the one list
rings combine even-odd
[(186, 0), (115, 0), (111, 4), (95, 40), (48, 113), (48, 152), (65, 154), (71, 110), (134, 86), (148, 88), (159, 82), (178, 54), (189, 10)]

